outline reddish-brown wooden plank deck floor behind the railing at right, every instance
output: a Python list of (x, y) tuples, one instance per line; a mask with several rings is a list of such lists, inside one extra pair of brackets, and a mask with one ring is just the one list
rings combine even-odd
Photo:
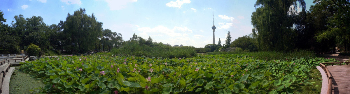
[(332, 94), (350, 94), (350, 65), (327, 66), (333, 76)]

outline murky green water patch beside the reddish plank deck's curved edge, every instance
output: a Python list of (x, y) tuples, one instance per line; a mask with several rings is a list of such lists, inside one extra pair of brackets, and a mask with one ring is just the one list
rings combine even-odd
[(322, 87), (322, 76), (316, 67), (309, 72), (309, 78), (304, 83), (293, 83), (292, 89), (295, 94), (320, 94)]

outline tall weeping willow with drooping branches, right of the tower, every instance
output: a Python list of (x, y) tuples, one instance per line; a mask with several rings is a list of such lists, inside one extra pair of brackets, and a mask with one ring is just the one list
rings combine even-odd
[(285, 51), (294, 48), (294, 15), (303, 0), (257, 0), (252, 13), (253, 34), (260, 51)]

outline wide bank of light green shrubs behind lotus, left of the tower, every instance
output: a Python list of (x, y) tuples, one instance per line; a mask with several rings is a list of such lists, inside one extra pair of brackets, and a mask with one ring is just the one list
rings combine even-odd
[(197, 55), (194, 47), (172, 47), (158, 43), (141, 45), (135, 41), (127, 41), (123, 47), (112, 49), (111, 53), (115, 55), (134, 55), (162, 58), (191, 58), (196, 57)]

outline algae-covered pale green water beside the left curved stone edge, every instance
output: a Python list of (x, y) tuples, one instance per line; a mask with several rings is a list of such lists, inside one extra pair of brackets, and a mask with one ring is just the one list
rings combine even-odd
[(34, 77), (33, 74), (20, 71), (19, 66), (14, 66), (10, 79), (10, 94), (28, 94), (28, 93), (40, 93), (45, 86), (42, 83), (42, 79)]

